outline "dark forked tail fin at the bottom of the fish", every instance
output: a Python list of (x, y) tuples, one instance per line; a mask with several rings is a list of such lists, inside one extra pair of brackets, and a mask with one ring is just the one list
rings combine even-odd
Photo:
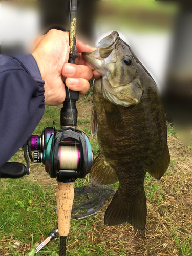
[(104, 224), (106, 226), (115, 226), (126, 222), (141, 231), (144, 229), (146, 224), (146, 197), (144, 188), (141, 194), (128, 198), (122, 197), (118, 189), (106, 209), (104, 216)]

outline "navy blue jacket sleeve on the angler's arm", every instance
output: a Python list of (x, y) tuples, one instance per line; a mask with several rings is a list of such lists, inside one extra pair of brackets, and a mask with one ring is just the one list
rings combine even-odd
[(31, 54), (0, 55), (0, 167), (40, 122), (45, 110), (44, 83)]

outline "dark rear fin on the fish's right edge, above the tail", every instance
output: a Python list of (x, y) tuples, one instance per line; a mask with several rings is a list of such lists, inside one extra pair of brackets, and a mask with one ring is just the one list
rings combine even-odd
[(166, 146), (162, 156), (158, 159), (158, 162), (156, 162), (156, 164), (153, 165), (153, 167), (150, 170), (147, 170), (147, 172), (157, 180), (160, 180), (163, 174), (166, 172), (169, 163), (170, 156), (168, 146)]

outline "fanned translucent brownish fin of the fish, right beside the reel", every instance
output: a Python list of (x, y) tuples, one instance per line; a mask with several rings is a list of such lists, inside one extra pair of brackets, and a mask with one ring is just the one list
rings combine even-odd
[(90, 172), (90, 181), (92, 186), (106, 186), (118, 181), (115, 170), (106, 162), (101, 153), (94, 160)]

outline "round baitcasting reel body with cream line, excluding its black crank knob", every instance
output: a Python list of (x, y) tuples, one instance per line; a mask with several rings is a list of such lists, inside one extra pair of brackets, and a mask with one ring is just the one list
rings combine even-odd
[[(74, 182), (91, 170), (93, 153), (89, 139), (73, 127), (55, 130), (53, 123), (53, 127), (46, 127), (40, 136), (32, 135), (27, 144), (31, 161), (43, 163), (51, 178), (57, 177), (59, 182)], [(24, 151), (26, 149), (24, 147)]]

